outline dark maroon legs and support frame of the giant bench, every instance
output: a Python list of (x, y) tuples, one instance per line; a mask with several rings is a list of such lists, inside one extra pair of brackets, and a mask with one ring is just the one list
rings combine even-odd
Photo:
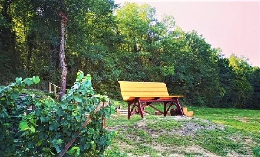
[[(183, 111), (181, 109), (181, 105), (179, 103), (178, 97), (172, 97), (166, 100), (158, 100), (160, 97), (155, 97), (153, 100), (140, 100), (139, 97), (135, 98), (134, 100), (127, 101), (128, 104), (128, 119), (135, 113), (140, 113), (141, 117), (144, 118), (144, 107), (150, 106), (156, 111), (159, 111), (163, 114), (163, 116), (166, 116), (169, 109), (172, 107), (172, 105), (175, 105), (177, 110), (180, 112), (180, 114), (183, 116)], [(142, 102), (145, 102), (144, 105), (142, 105)], [(153, 102), (163, 102), (164, 105), (164, 111), (160, 111), (159, 109), (155, 108), (152, 103)], [(168, 105), (168, 108), (167, 108)], [(134, 108), (137, 107), (138, 109), (135, 110), (135, 113), (133, 113)]]

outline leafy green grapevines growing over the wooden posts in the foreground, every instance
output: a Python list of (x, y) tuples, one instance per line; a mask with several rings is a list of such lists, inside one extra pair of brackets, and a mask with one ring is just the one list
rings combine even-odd
[[(39, 83), (39, 77), (16, 78), (15, 83), (0, 91), (0, 150), (4, 156), (53, 156), (76, 138), (67, 154), (71, 156), (103, 156), (114, 132), (102, 128), (102, 118), (109, 118), (115, 107), (108, 105), (97, 113), (99, 103), (109, 103), (107, 96), (95, 94), (91, 76), (77, 73), (74, 85), (58, 102), (51, 97), (35, 99), (18, 94), (27, 85)], [(20, 102), (19, 104), (17, 104)], [(28, 112), (33, 105), (35, 110)], [(27, 112), (24, 115), (24, 112)], [(86, 116), (91, 122), (82, 127)], [(77, 137), (77, 132), (80, 133)], [(26, 140), (25, 140), (26, 139)]]

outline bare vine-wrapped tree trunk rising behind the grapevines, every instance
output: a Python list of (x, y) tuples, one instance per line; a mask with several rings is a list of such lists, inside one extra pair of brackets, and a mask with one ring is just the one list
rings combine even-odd
[(65, 51), (64, 51), (64, 36), (65, 36), (65, 25), (67, 22), (67, 17), (65, 14), (60, 13), (61, 17), (61, 40), (60, 40), (60, 52), (59, 52), (59, 58), (60, 58), (60, 67), (62, 70), (61, 74), (61, 82), (60, 82), (60, 97), (64, 96), (66, 93), (66, 81), (67, 81), (67, 65), (65, 64)]

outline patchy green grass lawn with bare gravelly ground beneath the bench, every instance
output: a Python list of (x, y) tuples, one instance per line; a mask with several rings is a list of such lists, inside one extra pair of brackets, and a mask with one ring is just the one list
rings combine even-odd
[[(122, 103), (126, 107), (125, 102)], [(158, 108), (163, 108), (157, 105)], [(117, 156), (252, 156), (260, 146), (260, 111), (189, 107), (194, 117), (156, 116), (142, 119), (113, 114), (107, 129), (117, 135), (108, 151)]]

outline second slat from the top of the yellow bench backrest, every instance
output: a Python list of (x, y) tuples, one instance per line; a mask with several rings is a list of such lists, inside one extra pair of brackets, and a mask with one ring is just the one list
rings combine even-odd
[(121, 87), (121, 92), (168, 92), (165, 87)]

